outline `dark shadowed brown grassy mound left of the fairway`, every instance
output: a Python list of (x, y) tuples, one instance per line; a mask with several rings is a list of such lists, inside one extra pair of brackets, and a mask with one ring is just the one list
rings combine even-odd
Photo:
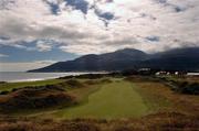
[(24, 87), (0, 97), (0, 111), (7, 113), (71, 106), (75, 98), (55, 85)]

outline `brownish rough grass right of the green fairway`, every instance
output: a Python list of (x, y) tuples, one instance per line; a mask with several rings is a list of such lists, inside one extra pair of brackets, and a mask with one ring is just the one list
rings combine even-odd
[(156, 108), (159, 111), (179, 111), (192, 116), (199, 116), (198, 96), (178, 94), (160, 81), (145, 81), (140, 78), (139, 80), (128, 78), (128, 80), (138, 87), (137, 91), (142, 94), (146, 103), (148, 101), (154, 101), (150, 102), (151, 107), (148, 107)]

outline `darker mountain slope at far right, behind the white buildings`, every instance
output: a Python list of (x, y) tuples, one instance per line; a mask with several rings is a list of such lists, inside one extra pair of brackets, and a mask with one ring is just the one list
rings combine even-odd
[(199, 47), (176, 48), (156, 53), (143, 63), (146, 67), (169, 70), (198, 70)]

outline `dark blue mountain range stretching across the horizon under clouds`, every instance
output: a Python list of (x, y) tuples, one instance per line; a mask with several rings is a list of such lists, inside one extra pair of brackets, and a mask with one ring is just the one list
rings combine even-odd
[(175, 48), (154, 54), (124, 48), (101, 55), (84, 55), (29, 72), (114, 72), (139, 68), (197, 72), (199, 47)]

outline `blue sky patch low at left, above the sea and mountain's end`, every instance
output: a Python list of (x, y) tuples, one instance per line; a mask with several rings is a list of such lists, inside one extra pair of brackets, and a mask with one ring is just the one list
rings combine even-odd
[[(29, 47), (33, 47), (33, 45)], [(0, 57), (0, 62), (31, 62), (44, 59), (67, 61), (77, 57), (77, 55), (63, 52), (57, 47), (49, 52), (39, 52), (36, 50), (28, 51), (24, 48), (1, 45), (0, 54), (8, 55), (8, 57)]]

